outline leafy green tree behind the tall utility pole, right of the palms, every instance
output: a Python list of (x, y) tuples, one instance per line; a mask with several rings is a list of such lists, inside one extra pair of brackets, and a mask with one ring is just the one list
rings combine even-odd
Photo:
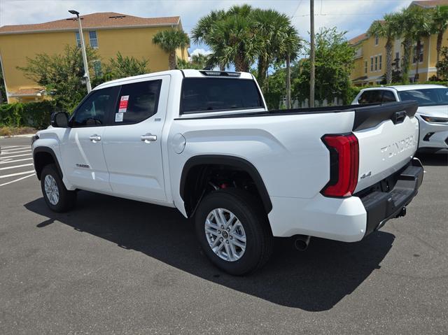
[[(355, 50), (345, 38), (346, 31), (321, 29), (316, 34), (316, 100), (329, 104), (338, 98), (349, 103), (350, 73)], [(307, 45), (309, 54), (309, 45)], [(309, 98), (309, 59), (301, 59), (293, 68), (293, 96), (299, 101)]]

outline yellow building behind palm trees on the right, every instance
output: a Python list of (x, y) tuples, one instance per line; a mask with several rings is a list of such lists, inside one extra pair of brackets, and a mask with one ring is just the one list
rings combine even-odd
[[(428, 0), (412, 1), (409, 6), (421, 6), (423, 8), (433, 8), (435, 6), (448, 5), (448, 0)], [(349, 41), (356, 50), (354, 68), (351, 72), (353, 85), (375, 85), (381, 83), (386, 73), (386, 39), (370, 36), (367, 33), (360, 34)], [(414, 81), (416, 61), (419, 61), (419, 82), (429, 80), (435, 76), (436, 69), (436, 45), (437, 35), (433, 34), (422, 39), (420, 55), (412, 57), (412, 64), (409, 69), (409, 79)], [(415, 46), (415, 45), (414, 45)], [(444, 34), (442, 46), (448, 46), (448, 34)], [(393, 62), (402, 58), (402, 39), (397, 38), (393, 43)], [(400, 64), (400, 62), (398, 63)]]

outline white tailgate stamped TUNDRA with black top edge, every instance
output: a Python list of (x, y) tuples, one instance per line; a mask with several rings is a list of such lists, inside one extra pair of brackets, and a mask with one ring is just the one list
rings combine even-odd
[(353, 134), (358, 138), (359, 171), (355, 192), (395, 173), (414, 156), (419, 122), (414, 101), (356, 108)]

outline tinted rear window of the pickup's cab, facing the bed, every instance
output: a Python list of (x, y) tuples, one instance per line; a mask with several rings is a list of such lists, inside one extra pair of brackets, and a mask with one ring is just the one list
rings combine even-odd
[(184, 78), (181, 113), (207, 113), (265, 108), (254, 80)]

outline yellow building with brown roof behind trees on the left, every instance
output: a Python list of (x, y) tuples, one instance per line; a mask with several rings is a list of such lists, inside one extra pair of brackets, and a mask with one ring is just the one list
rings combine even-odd
[[(164, 29), (182, 29), (181, 18), (136, 17), (120, 13), (93, 13), (80, 16), (85, 45), (97, 50), (100, 59), (89, 64), (90, 72), (101, 71), (102, 62), (123, 57), (148, 59), (152, 72), (169, 68), (168, 54), (153, 43), (153, 36)], [(36, 54), (62, 54), (66, 45), (80, 45), (76, 17), (39, 24), (0, 27), (0, 62), (8, 103), (45, 99), (43, 87), (25, 77), (18, 66)], [(188, 50), (177, 50), (177, 57), (188, 59)]]

